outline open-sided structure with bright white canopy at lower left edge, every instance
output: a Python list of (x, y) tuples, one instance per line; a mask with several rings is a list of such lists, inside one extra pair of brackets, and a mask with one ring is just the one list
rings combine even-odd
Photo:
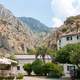
[(0, 58), (0, 76), (16, 76), (16, 64), (17, 61), (4, 57)]

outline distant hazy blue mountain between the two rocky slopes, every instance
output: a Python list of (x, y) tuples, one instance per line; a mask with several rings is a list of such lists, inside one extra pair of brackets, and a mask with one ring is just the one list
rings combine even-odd
[(39, 20), (31, 17), (19, 17), (19, 19), (22, 20), (32, 30), (32, 32), (39, 37), (44, 37), (52, 30)]

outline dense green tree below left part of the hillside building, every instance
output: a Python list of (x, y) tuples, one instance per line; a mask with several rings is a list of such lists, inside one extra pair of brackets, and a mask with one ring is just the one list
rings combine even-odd
[(56, 61), (60, 63), (70, 63), (70, 53), (72, 51), (73, 46), (67, 45), (56, 53)]

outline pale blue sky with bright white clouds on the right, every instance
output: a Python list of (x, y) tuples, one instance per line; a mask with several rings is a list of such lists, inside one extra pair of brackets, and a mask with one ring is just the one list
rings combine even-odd
[(80, 0), (0, 0), (17, 17), (33, 17), (48, 27), (59, 27), (80, 14)]

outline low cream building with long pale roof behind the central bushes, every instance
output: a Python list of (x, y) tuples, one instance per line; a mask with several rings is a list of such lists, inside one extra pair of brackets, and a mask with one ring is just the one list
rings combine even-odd
[[(17, 66), (17, 73), (26, 74), (26, 72), (23, 69), (23, 65), (35, 61), (35, 55), (15, 55), (15, 57), (19, 63)], [(38, 58), (40, 59), (41, 57), (39, 56)], [(49, 55), (45, 56), (46, 62), (51, 62), (51, 60), (52, 59)]]

